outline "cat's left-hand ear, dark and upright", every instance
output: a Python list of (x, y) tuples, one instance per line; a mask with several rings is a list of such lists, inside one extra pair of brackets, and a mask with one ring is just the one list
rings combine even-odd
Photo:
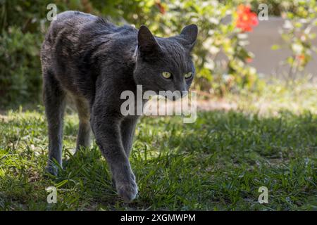
[(153, 34), (149, 28), (144, 25), (139, 27), (139, 32), (137, 33), (137, 46), (141, 57), (155, 56), (161, 51)]

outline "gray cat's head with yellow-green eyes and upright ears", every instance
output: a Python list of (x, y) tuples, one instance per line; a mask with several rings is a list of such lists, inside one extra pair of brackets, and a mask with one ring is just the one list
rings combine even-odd
[(177, 36), (161, 38), (144, 25), (139, 28), (134, 79), (143, 91), (188, 91), (195, 75), (190, 53), (197, 32), (197, 25), (188, 25)]

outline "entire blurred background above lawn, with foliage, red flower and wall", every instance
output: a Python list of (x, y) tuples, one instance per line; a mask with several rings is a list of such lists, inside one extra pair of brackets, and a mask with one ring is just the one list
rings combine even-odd
[(2, 110), (42, 101), (39, 49), (50, 3), (58, 12), (84, 11), (117, 25), (145, 24), (162, 37), (196, 23), (193, 89), (201, 98), (261, 95), (276, 79), (290, 86), (316, 78), (316, 1), (0, 0)]

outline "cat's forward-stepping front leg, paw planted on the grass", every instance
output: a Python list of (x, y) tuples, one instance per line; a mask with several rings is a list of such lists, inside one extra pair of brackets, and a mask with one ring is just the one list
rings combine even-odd
[(118, 195), (130, 202), (137, 195), (137, 184), (121, 141), (120, 118), (99, 108), (93, 109), (91, 122), (97, 145), (111, 167)]

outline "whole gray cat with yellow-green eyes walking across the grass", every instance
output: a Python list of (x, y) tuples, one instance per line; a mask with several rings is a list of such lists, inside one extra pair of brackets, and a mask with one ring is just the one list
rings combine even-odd
[(57, 174), (62, 165), (63, 113), (66, 96), (77, 107), (80, 124), (77, 148), (89, 147), (91, 129), (110, 165), (118, 195), (125, 201), (137, 195), (135, 175), (128, 160), (137, 115), (120, 113), (125, 90), (187, 91), (194, 77), (190, 51), (197, 26), (185, 27), (175, 37), (154, 37), (142, 25), (117, 27), (103, 18), (66, 11), (57, 15), (42, 44), (44, 105), (49, 125), (49, 161)]

